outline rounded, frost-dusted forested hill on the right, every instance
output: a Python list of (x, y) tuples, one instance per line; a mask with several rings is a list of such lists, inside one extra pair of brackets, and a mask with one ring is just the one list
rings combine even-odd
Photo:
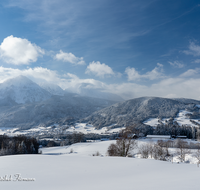
[(96, 111), (92, 115), (82, 119), (81, 122), (92, 124), (98, 129), (112, 125), (114, 127), (129, 126), (134, 123), (142, 123), (149, 118), (163, 119), (176, 117), (180, 110), (199, 113), (199, 108), (196, 104), (200, 104), (200, 101), (141, 97), (116, 103), (110, 107)]

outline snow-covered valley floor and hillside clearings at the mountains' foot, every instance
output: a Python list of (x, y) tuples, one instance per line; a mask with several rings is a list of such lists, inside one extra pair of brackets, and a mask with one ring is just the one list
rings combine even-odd
[[(196, 105), (200, 106), (200, 105)], [(185, 110), (180, 110), (180, 112), (177, 114), (176, 118), (174, 118), (174, 121), (176, 121), (180, 126), (181, 125), (190, 125), (190, 126), (195, 126), (195, 124), (198, 123), (200, 124), (200, 119), (192, 119), (194, 122), (192, 123), (189, 118), (187, 118), (186, 114), (192, 114), (192, 112), (188, 112)], [(166, 124), (169, 121), (170, 118), (163, 118), (162, 120), (159, 121), (158, 118), (149, 118), (143, 123), (146, 125), (150, 125), (153, 127), (156, 127), (159, 122), (162, 122), (163, 124)], [(1, 128), (0, 129), (0, 135), (1, 134), (6, 134), (6, 135), (20, 135), (20, 134), (27, 134), (27, 135), (45, 135), (51, 133), (52, 135), (55, 134), (67, 134), (67, 133), (73, 133), (73, 132), (81, 132), (84, 134), (88, 133), (95, 133), (95, 134), (113, 134), (113, 133), (118, 133), (120, 130), (124, 129), (125, 127), (121, 128), (114, 128), (116, 124), (110, 125), (103, 127), (101, 129), (95, 129), (93, 125), (87, 124), (87, 123), (76, 123), (75, 125), (63, 125), (59, 126), (58, 124), (54, 124), (51, 126), (37, 126), (31, 129), (27, 130), (19, 130), (18, 128)]]

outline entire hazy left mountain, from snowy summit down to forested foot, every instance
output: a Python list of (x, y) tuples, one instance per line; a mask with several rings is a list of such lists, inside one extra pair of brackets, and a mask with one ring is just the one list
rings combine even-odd
[(59, 86), (48, 83), (39, 86), (24, 76), (2, 83), (0, 95), (0, 127), (23, 129), (63, 124), (65, 121), (84, 118), (115, 103), (66, 93)]

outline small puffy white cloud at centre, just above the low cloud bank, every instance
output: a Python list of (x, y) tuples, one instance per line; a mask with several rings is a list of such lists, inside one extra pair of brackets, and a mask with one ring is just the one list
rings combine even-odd
[(98, 77), (104, 77), (104, 76), (110, 76), (114, 75), (112, 68), (106, 65), (105, 63), (100, 63), (99, 61), (95, 62), (93, 61), (87, 66), (87, 69), (85, 71), (86, 74), (94, 74)]

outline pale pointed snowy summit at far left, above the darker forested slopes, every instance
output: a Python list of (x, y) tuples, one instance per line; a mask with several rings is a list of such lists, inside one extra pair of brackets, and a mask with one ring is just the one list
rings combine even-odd
[(47, 100), (51, 94), (27, 77), (20, 75), (0, 84), (0, 99), (7, 97), (24, 104)]

